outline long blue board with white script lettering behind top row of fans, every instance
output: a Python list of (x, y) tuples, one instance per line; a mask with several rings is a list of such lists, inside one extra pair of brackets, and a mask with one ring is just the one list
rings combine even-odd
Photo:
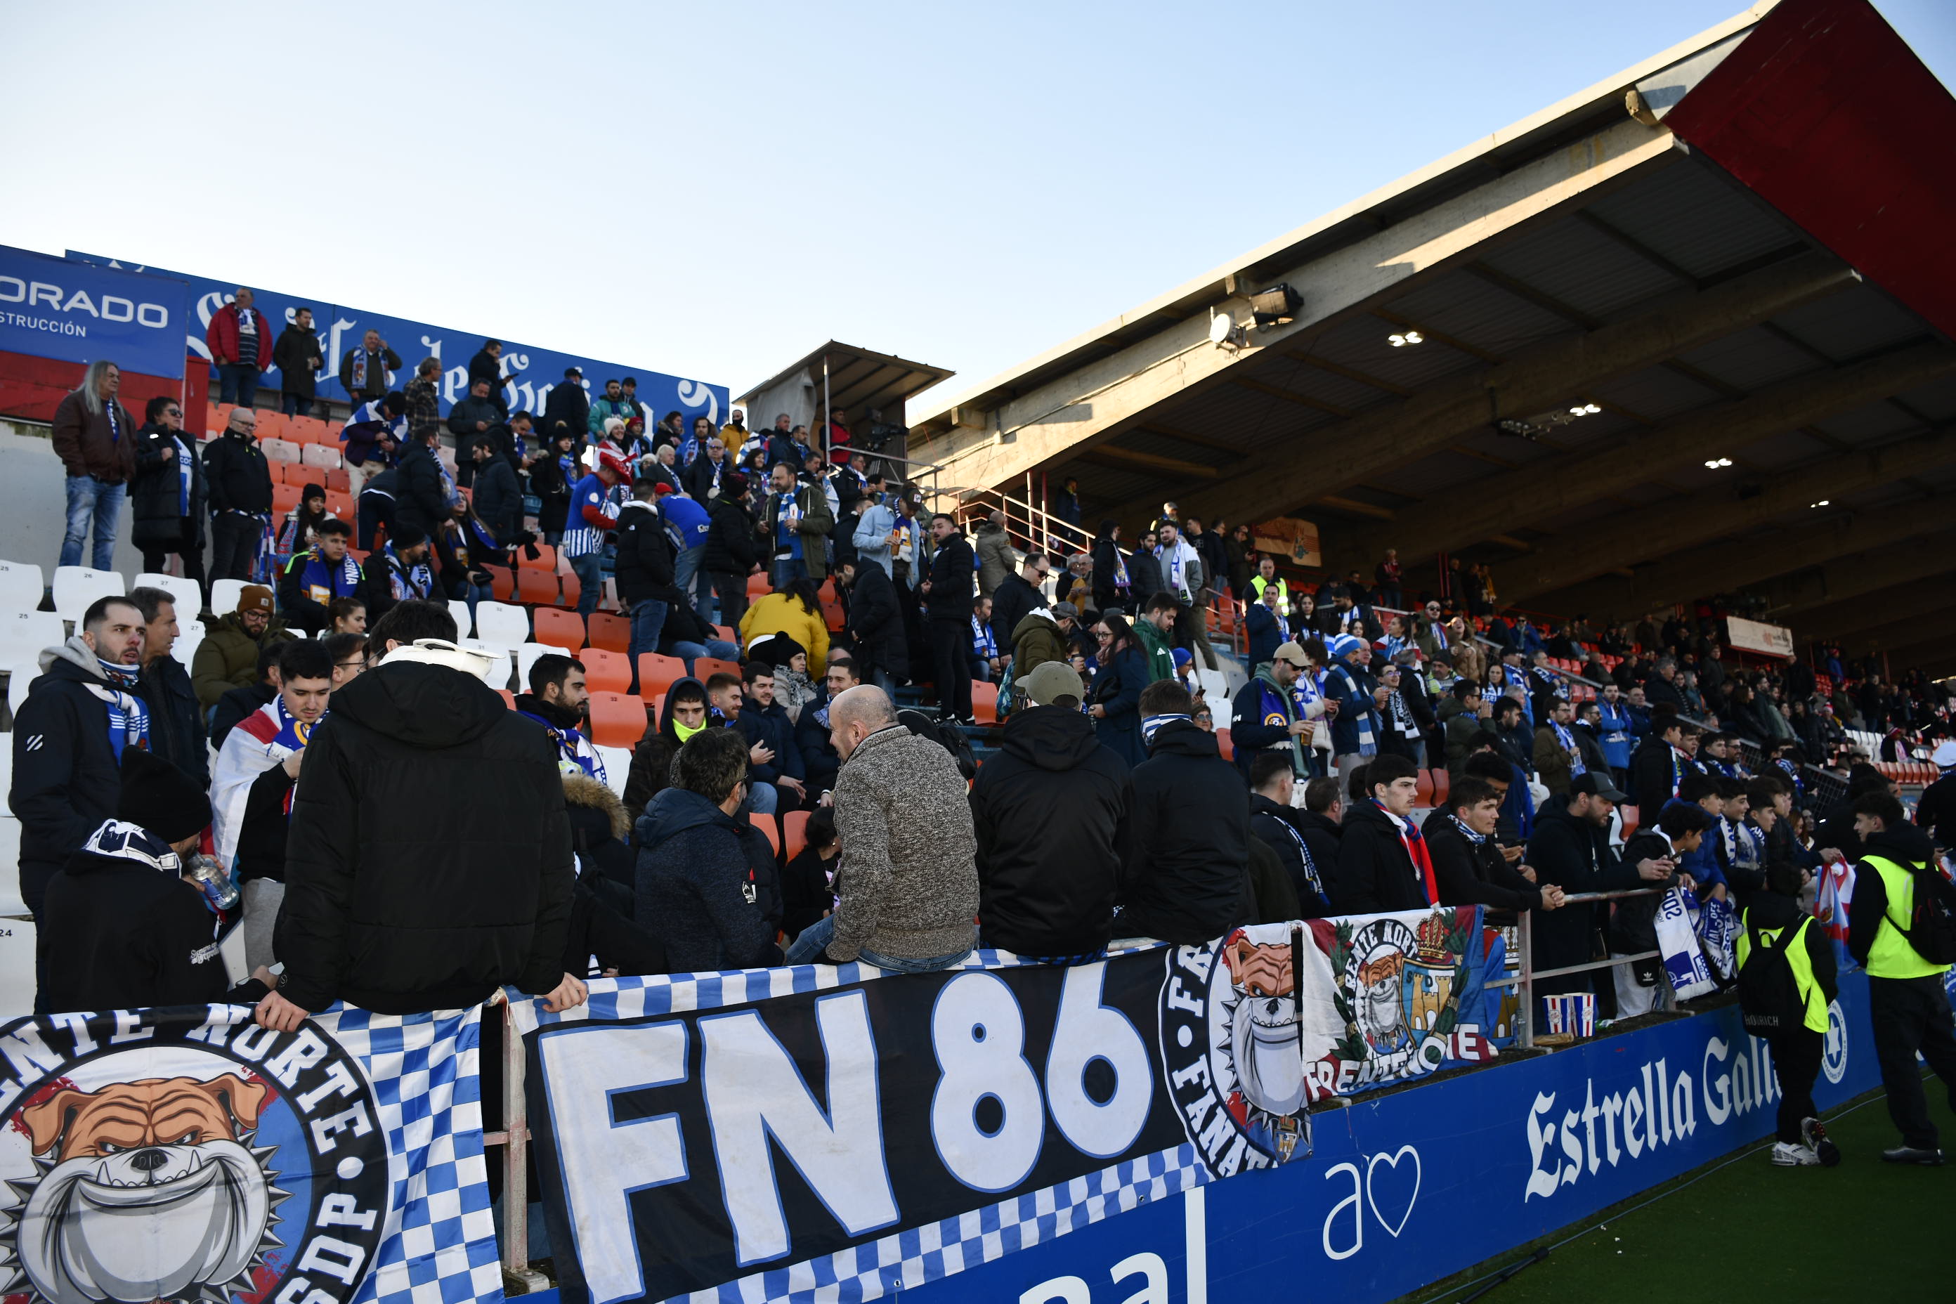
[[(182, 346), (178, 352), (182, 354), (188, 350), (190, 354), (205, 360), (211, 356), (211, 350), (203, 342), (203, 334), (211, 325), (211, 317), (231, 301), (237, 291), (237, 282), (164, 272), (160, 268), (119, 262), (100, 254), (82, 254), (72, 248), (68, 250), (68, 258), (72, 262), (67, 266), (96, 264), (102, 268), (123, 268), (125, 272), (139, 274), (141, 278), (172, 278), (186, 282), (188, 311), (180, 313)], [(252, 285), (252, 295), (256, 299), (254, 307), (266, 315), (274, 332), (289, 325), (299, 307), (313, 309), (313, 332), (319, 336), (319, 352), (327, 360), (325, 371), (317, 377), (317, 393), (325, 399), (346, 399), (346, 389), (340, 385), (340, 358), (358, 348), (368, 330), (378, 330), (387, 348), (401, 358), (401, 369), (387, 377), (389, 387), (393, 389), (399, 389), (413, 377), (415, 366), (422, 358), (440, 360), (442, 413), (448, 413), (450, 405), (467, 393), (469, 358), (481, 348), (481, 342), (491, 336), (487, 330), (434, 326), (421, 321), (407, 321), (405, 317), (389, 317), (385, 313), (348, 307), (344, 303), (331, 303), (319, 297), (295, 295), (282, 289)], [(667, 413), (677, 411), (683, 413), (689, 422), (694, 416), (706, 416), (718, 426), (728, 416), (726, 385), (710, 385), (706, 381), (667, 375), (665, 371), (651, 371), (647, 368), (632, 368), (618, 362), (602, 362), (599, 358), (583, 358), (579, 354), (538, 348), (534, 344), (516, 342), (507, 334), (497, 334), (495, 338), (503, 340), (503, 375), (507, 377), (503, 401), (509, 403), (512, 413), (542, 413), (544, 403), (550, 399), (550, 391), (563, 383), (563, 369), (581, 368), (585, 373), (585, 389), (589, 389), (593, 397), (602, 393), (606, 379), (624, 379), (626, 375), (636, 377), (638, 401), (645, 407), (649, 420), (659, 420)], [(178, 358), (178, 366), (182, 366), (182, 358)], [(276, 389), (278, 369), (268, 369), (264, 379), (258, 383)]]

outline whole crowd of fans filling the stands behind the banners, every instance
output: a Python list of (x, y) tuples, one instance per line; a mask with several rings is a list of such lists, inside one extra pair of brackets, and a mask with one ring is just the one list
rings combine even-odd
[[(368, 350), (354, 379), (374, 389), (397, 364)], [(1535, 913), (1534, 962), (1559, 968), (1653, 948), (1647, 897), (1578, 893), (1747, 907), (1774, 866), (1858, 856), (1845, 805), (1809, 809), (1827, 766), (1854, 802), (1889, 792), (1845, 725), (1948, 733), (1921, 680), (1739, 669), (1682, 618), (1541, 630), (1492, 606), (1485, 571), (1400, 606), (1393, 555), (1373, 587), (1305, 585), (1246, 526), (1172, 502), (1133, 545), (1111, 520), (1052, 551), (998, 514), (966, 536), (786, 416), (647, 426), (628, 381), (587, 399), (575, 369), (532, 416), (497, 397), (493, 340), (483, 358), (446, 422), (432, 360), (354, 411), (356, 522), (323, 495), (270, 520), (246, 407), (198, 456), (168, 399), (123, 440), (106, 364), (65, 405), (65, 457), (96, 475), (106, 440), (131, 461), (145, 549), (190, 571), (207, 504), (213, 575), (266, 583), (209, 618), (190, 673), (153, 588), (98, 600), (43, 653), (10, 794), (43, 1009), (229, 995), (295, 1026), (334, 999), (430, 1009), (501, 983), (561, 1009), (593, 972), (925, 972), (974, 946), (1072, 964), (1123, 936), (1465, 903)], [(540, 540), (581, 612), (610, 577), (634, 674), (647, 651), (739, 667), (665, 688), (622, 796), (583, 663), (536, 659), (507, 710), (442, 600), (473, 612), (483, 567)], [(753, 575), (769, 592), (749, 604)], [(1242, 612), (1228, 702), (1211, 608)], [(982, 766), (974, 682), (1003, 717)], [(935, 714), (900, 710), (925, 686)], [(1956, 768), (1956, 743), (1936, 761)], [(184, 876), (170, 909), (121, 891), (131, 864)], [(1604, 974), (1606, 1013), (1659, 1005), (1655, 966)]]

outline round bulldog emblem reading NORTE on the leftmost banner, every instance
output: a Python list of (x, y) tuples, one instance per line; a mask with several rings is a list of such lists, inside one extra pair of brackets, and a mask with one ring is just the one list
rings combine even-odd
[(0, 1026), (0, 1292), (29, 1304), (344, 1304), (387, 1193), (340, 1044), (248, 1007)]

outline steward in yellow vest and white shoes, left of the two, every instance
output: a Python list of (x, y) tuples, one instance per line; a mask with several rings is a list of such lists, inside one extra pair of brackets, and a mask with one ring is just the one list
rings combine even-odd
[(1772, 1161), (1780, 1167), (1841, 1163), (1841, 1148), (1827, 1140), (1813, 1108), (1837, 991), (1833, 942), (1800, 909), (1800, 866), (1766, 866), (1766, 890), (1739, 915), (1739, 1007), (1745, 1030), (1772, 1048), (1780, 1079)]

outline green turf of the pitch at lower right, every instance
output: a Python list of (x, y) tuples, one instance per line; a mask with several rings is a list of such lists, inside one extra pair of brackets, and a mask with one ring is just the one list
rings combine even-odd
[[(1933, 1114), (1942, 1114), (1936, 1122), (1948, 1152), (1956, 1126), (1934, 1081), (1929, 1099)], [(1880, 1091), (1827, 1116), (1827, 1134), (1841, 1146), (1839, 1167), (1772, 1167), (1770, 1142), (1739, 1152), (1737, 1161), (1727, 1155), (1543, 1238), (1549, 1257), (1494, 1284), (1477, 1304), (1956, 1300), (1956, 1163), (1882, 1163), (1882, 1150), (1899, 1138)], [(1645, 1204), (1653, 1196), (1661, 1198)], [(1463, 1300), (1489, 1286), (1477, 1279), (1534, 1249), (1500, 1255), (1404, 1300)]]

